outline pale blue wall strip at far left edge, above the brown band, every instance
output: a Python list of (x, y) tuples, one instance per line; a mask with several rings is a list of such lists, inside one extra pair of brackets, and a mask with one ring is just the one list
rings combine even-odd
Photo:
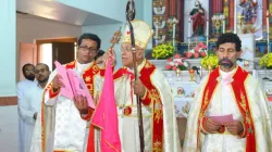
[(15, 96), (15, 0), (3, 0), (0, 5), (0, 97)]

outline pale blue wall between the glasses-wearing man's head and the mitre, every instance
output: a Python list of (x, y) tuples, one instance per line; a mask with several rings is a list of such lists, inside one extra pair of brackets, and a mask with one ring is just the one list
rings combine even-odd
[[(92, 25), (92, 26), (83, 26), (83, 33), (92, 33), (100, 37), (101, 39), (101, 49), (103, 51), (107, 51), (111, 43), (110, 40), (113, 36), (113, 34), (122, 27), (122, 33), (124, 31), (124, 24), (107, 24), (107, 25)], [(122, 39), (121, 39), (122, 40)], [(121, 42), (120, 40), (120, 42)], [(121, 47), (120, 45), (115, 45), (114, 50), (116, 52), (116, 60), (118, 60), (118, 67), (122, 66), (121, 63)]]

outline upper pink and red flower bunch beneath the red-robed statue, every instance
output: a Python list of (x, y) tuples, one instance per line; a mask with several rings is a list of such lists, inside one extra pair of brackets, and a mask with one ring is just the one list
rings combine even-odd
[(189, 51), (185, 51), (184, 55), (186, 58), (205, 58), (208, 54), (207, 46), (202, 42), (199, 42), (195, 48), (190, 49)]

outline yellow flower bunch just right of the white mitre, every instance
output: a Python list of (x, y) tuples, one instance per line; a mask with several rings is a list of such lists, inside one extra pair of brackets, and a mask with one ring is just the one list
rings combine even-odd
[(174, 47), (172, 43), (161, 43), (153, 48), (152, 58), (154, 59), (168, 59), (173, 55)]

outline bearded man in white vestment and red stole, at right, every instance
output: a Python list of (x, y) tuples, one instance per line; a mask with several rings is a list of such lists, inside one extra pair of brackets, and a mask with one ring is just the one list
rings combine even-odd
[[(217, 42), (219, 67), (196, 91), (185, 135), (186, 152), (271, 152), (272, 122), (258, 80), (236, 64), (240, 39), (223, 34)], [(232, 115), (222, 122), (212, 116)]]

